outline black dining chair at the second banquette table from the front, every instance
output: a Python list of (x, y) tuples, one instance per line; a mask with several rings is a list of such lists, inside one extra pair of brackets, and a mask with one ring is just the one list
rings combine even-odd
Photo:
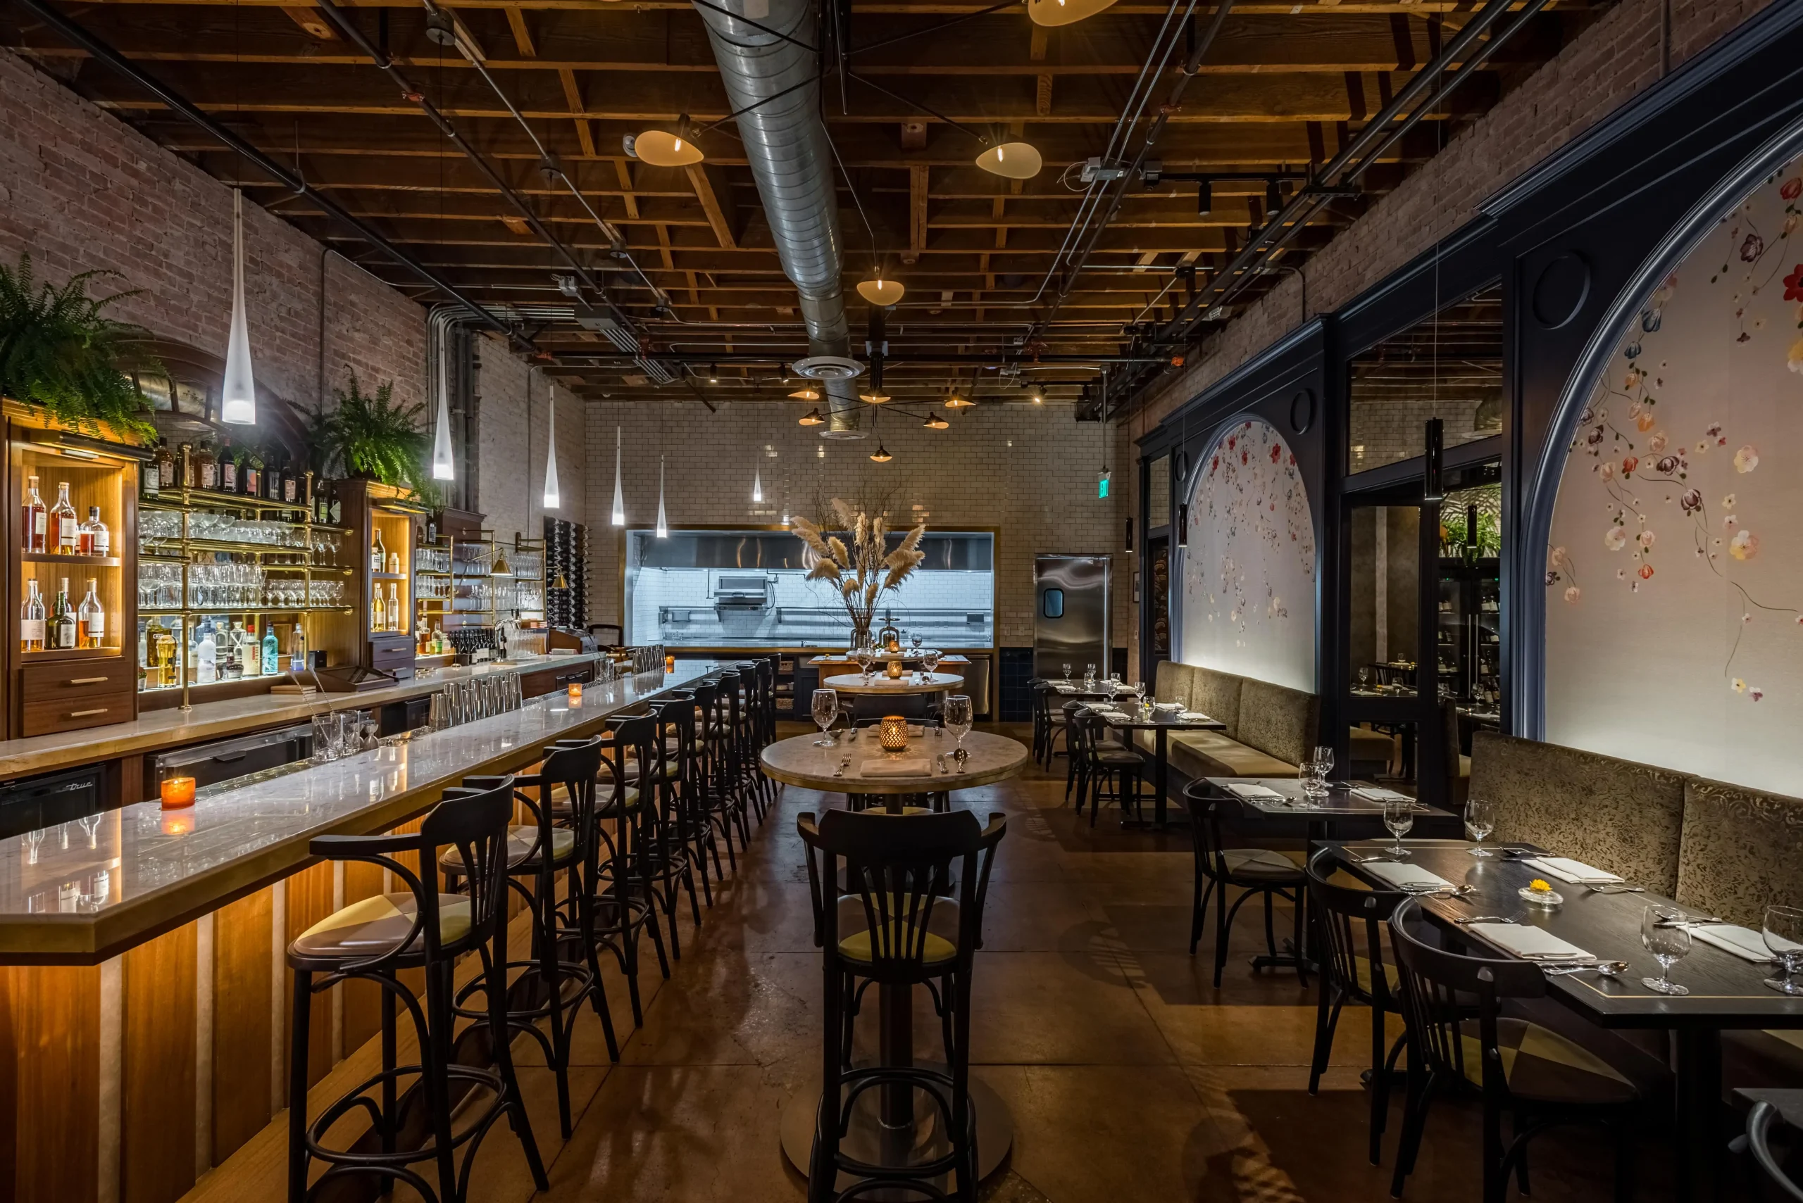
[[(1195, 890), (1190, 897), (1190, 956), (1203, 940), (1203, 920), (1208, 915), (1208, 902), (1215, 902), (1215, 985), (1221, 985), (1221, 972), (1228, 963), (1228, 931), (1239, 908), (1251, 897), (1264, 900), (1264, 945), (1266, 956), (1255, 958), (1258, 967), (1266, 958), (1275, 960), (1277, 929), (1275, 900), (1287, 899), (1295, 908), (1295, 931), (1291, 942), (1302, 947), (1304, 918), (1304, 875), (1302, 863), (1269, 848), (1230, 848), (1226, 845), (1228, 828), (1239, 819), (1237, 801), (1215, 798), (1208, 782), (1190, 782), (1183, 789), (1185, 807), (1190, 810), (1190, 834), (1195, 854)], [(1228, 904), (1228, 890), (1239, 890), (1240, 897)], [(1298, 976), (1307, 981), (1307, 969), (1296, 963)]]

